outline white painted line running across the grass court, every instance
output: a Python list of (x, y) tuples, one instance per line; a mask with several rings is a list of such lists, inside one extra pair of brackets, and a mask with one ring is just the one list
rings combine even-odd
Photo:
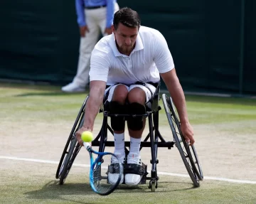
[[(53, 163), (53, 164), (59, 163), (58, 161), (41, 160), (41, 159), (26, 159), (26, 158), (12, 157), (12, 156), (0, 156), (0, 159), (9, 159), (9, 160), (17, 160), (17, 161), (31, 161), (31, 162), (36, 162), (36, 163)], [(79, 163), (73, 163), (73, 166), (90, 167), (89, 164), (79, 164)], [(159, 171), (157, 173), (160, 175), (167, 175), (167, 176), (189, 177), (188, 175), (181, 174), (181, 173), (169, 173), (169, 172), (159, 172)], [(237, 180), (237, 179), (230, 179), (230, 178), (217, 178), (217, 177), (210, 177), (210, 176), (204, 176), (203, 179), (214, 180), (214, 181), (227, 181), (227, 182), (233, 182), (233, 183), (256, 184), (256, 181)]]

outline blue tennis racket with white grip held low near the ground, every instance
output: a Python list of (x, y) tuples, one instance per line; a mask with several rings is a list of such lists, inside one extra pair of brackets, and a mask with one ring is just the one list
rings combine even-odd
[[(119, 185), (122, 178), (124, 168), (122, 163), (111, 163), (111, 157), (117, 156), (110, 152), (97, 152), (92, 149), (92, 146), (88, 142), (84, 142), (85, 149), (90, 154), (90, 186), (95, 193), (100, 195), (109, 195)], [(97, 156), (94, 159), (94, 156)], [(109, 182), (108, 174), (114, 173), (114, 182)]]

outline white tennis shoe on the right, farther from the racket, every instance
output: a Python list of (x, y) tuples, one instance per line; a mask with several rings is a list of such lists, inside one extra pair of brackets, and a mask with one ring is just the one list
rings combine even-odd
[[(127, 156), (127, 163), (135, 163), (142, 166), (140, 155), (136, 153), (129, 153)], [(142, 180), (142, 175), (127, 173), (125, 174), (125, 184), (129, 186), (136, 186)]]

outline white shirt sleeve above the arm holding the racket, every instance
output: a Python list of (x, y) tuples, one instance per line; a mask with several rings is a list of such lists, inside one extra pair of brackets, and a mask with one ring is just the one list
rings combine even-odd
[(90, 59), (90, 82), (104, 81), (107, 82), (107, 76), (110, 68), (108, 55), (105, 52), (94, 49)]

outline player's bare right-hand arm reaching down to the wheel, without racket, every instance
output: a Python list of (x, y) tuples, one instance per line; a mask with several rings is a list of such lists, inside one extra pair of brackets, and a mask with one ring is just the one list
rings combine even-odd
[(186, 110), (186, 100), (181, 83), (176, 75), (176, 70), (173, 68), (167, 73), (161, 73), (167, 89), (171, 95), (172, 100), (178, 111), (178, 117), (181, 120), (181, 132), (185, 137), (186, 141), (190, 141), (191, 145), (195, 142), (193, 139), (193, 128), (188, 121), (188, 113)]

